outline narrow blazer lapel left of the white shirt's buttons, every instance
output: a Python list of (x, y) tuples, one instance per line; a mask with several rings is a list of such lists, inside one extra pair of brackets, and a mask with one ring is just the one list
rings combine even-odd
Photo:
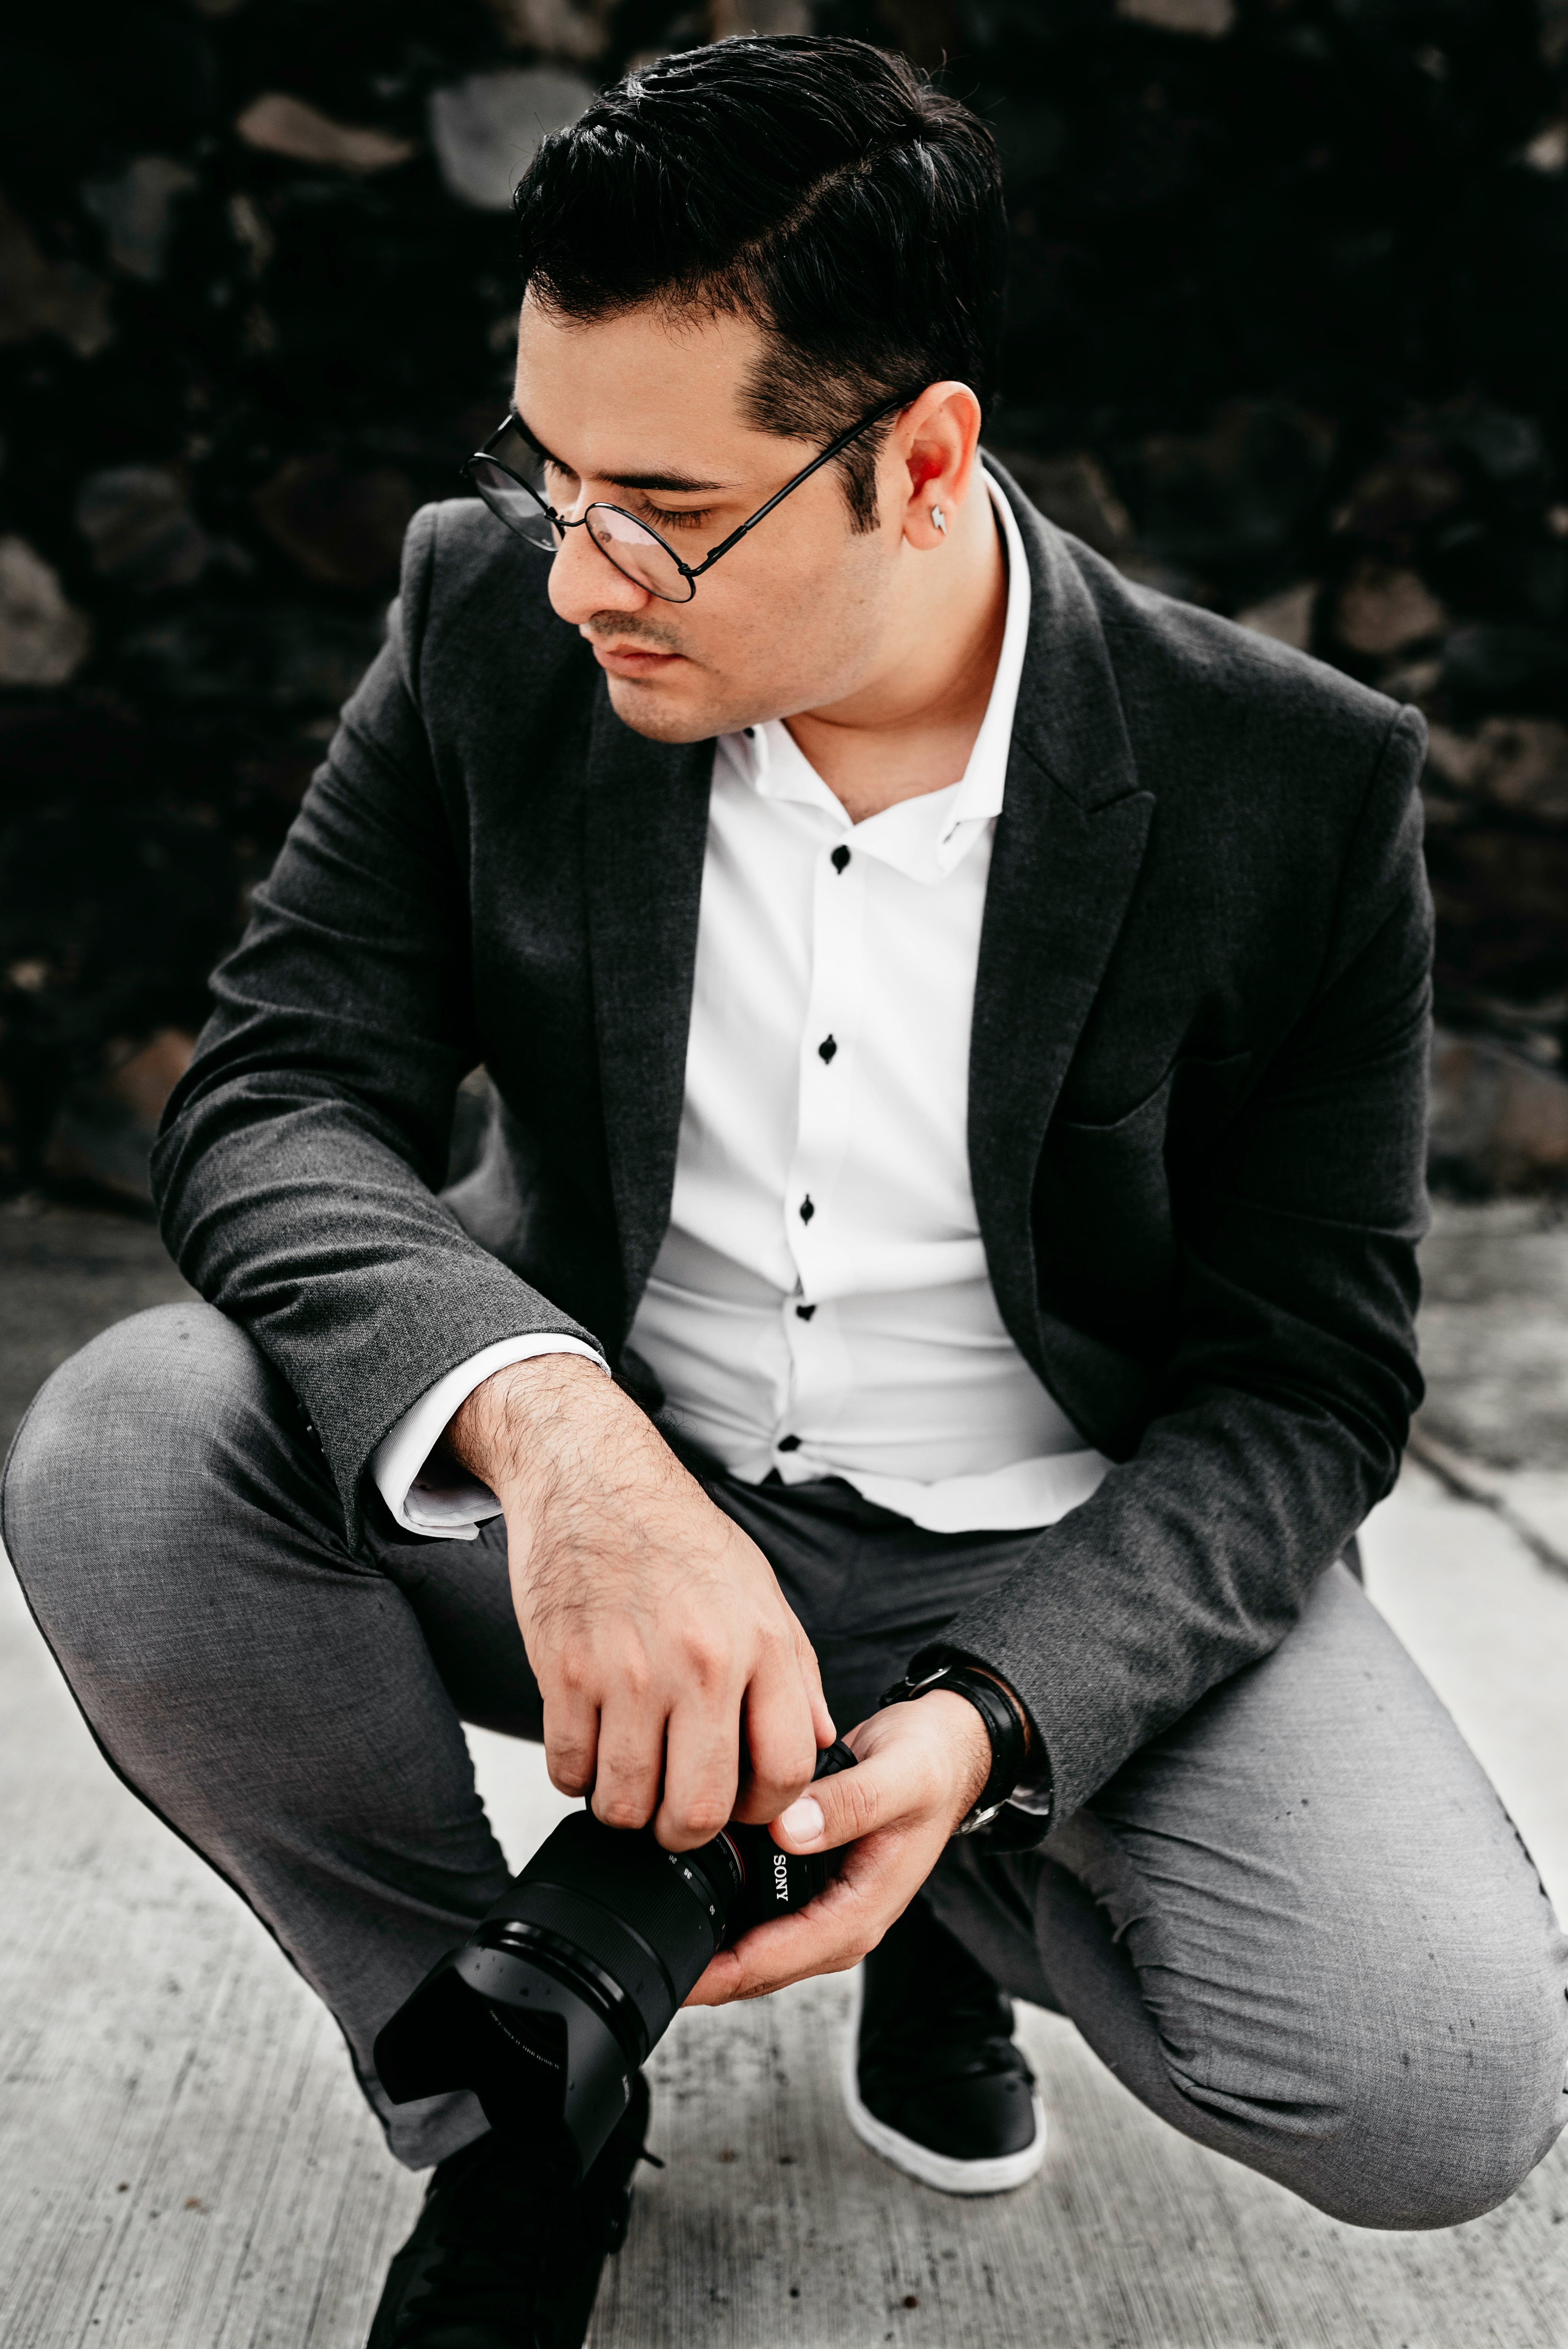
[(599, 686), (587, 789), (589, 963), (627, 1327), (676, 1182), (711, 778), (711, 742), (650, 742), (622, 726)]

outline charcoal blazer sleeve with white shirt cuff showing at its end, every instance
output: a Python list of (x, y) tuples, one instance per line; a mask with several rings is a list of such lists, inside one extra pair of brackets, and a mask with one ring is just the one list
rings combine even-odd
[(437, 510), (343, 709), (153, 1153), (178, 1268), (256, 1339), (359, 1529), (387, 1428), (512, 1337), (587, 1339), (434, 1196), (479, 1059), (462, 848), (420, 714)]

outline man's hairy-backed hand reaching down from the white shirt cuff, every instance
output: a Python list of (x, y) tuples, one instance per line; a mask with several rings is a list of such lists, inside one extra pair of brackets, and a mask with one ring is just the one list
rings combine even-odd
[(552, 1353), (474, 1388), (446, 1442), (507, 1517), (552, 1783), (592, 1790), (608, 1828), (653, 1820), (667, 1851), (793, 1802), (833, 1743), (817, 1658), (646, 1414)]

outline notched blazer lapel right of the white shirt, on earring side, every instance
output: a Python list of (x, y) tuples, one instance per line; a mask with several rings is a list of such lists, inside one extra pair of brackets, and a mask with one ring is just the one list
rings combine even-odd
[(1035, 1165), (1155, 801), (1138, 789), (1094, 599), (1061, 538), (991, 470), (1016, 512), (1033, 594), (974, 987), (969, 1179), (1002, 1320), (1040, 1369)]

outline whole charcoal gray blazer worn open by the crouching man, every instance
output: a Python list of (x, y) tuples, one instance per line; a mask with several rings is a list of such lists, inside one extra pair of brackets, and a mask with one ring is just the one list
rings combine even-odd
[[(1002, 486), (1033, 606), (969, 1167), (1002, 1318), (1117, 1466), (951, 1640), (1070, 1811), (1284, 1637), (1399, 1466), (1422, 726)], [(481, 1346), (617, 1362), (669, 1219), (714, 747), (620, 723), (545, 568), (479, 503), (415, 514), (157, 1144), (169, 1247), (289, 1379), (350, 1539), (380, 1438)], [(498, 1109), (441, 1200), (477, 1062)]]

